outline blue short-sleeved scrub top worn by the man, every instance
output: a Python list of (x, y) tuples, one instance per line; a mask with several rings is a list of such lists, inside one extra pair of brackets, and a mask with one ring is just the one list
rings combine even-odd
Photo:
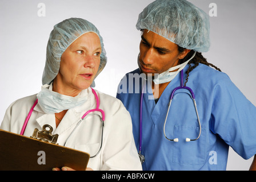
[[(140, 73), (139, 69), (127, 73), (117, 92), (117, 98), (131, 114), (137, 149), (142, 83), (131, 76)], [(179, 142), (167, 140), (163, 125), (170, 94), (180, 85), (179, 73), (167, 85), (157, 104), (151, 99), (152, 91), (143, 94), (141, 153), (146, 159), (143, 170), (226, 170), (229, 146), (244, 159), (256, 154), (256, 107), (225, 73), (203, 64), (189, 73), (187, 82), (195, 94), (201, 137), (191, 142), (185, 140), (197, 138), (199, 127), (193, 100), (189, 92), (182, 89), (175, 92), (165, 127), (167, 137), (178, 138)]]

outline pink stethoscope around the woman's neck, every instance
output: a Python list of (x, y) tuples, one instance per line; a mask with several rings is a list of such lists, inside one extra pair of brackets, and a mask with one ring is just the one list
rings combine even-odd
[[(99, 98), (98, 98), (98, 95), (97, 93), (95, 92), (95, 90), (93, 88), (91, 88), (91, 90), (93, 91), (93, 94), (94, 94), (94, 97), (95, 97), (95, 100), (96, 100), (96, 109), (91, 109), (89, 111), (86, 111), (85, 114), (83, 114), (82, 118), (80, 119), (80, 121), (77, 123), (77, 126), (75, 126), (74, 130), (71, 132), (71, 134), (69, 135), (69, 137), (66, 139), (66, 142), (67, 140), (70, 138), (70, 136), (74, 133), (75, 129), (77, 129), (77, 127), (79, 126), (79, 124), (83, 121), (83, 119), (85, 119), (86, 115), (91, 113), (91, 112), (94, 112), (94, 111), (99, 111), (101, 112), (102, 114), (102, 117), (101, 117), (101, 122), (102, 122), (102, 131), (101, 131), (101, 146), (99, 147), (99, 150), (97, 152), (97, 154), (95, 154), (94, 156), (90, 156), (90, 158), (94, 158), (95, 156), (97, 156), (99, 154), (99, 152), (101, 151), (101, 148), (102, 148), (102, 140), (103, 140), (103, 128), (104, 128), (104, 121), (105, 121), (105, 113), (102, 109), (99, 109)], [(29, 114), (27, 115), (26, 119), (25, 119), (25, 122), (23, 124), (23, 127), (21, 129), (21, 133), (20, 135), (24, 135), (24, 132), (26, 130), (26, 127), (27, 127), (27, 122), (29, 121), (29, 118), (31, 117), (31, 114), (33, 113), (33, 110), (34, 110), (34, 107), (37, 105), (38, 103), (38, 100), (36, 100), (33, 104), (33, 106), (31, 107), (30, 111), (29, 111)], [(66, 144), (65, 142), (65, 144)], [(64, 146), (65, 146), (64, 144)]]

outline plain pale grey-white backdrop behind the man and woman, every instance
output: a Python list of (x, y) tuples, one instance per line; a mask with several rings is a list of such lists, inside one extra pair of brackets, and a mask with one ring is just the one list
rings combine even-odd
[[(0, 1), (0, 123), (11, 102), (38, 93), (42, 86), (46, 45), (53, 26), (64, 19), (87, 19), (104, 39), (108, 62), (96, 78), (95, 89), (115, 97), (125, 73), (137, 68), (141, 33), (138, 14), (153, 0), (1, 0)], [(217, 65), (256, 105), (255, 0), (191, 0), (209, 13), (211, 48), (203, 55)], [(44, 3), (45, 16), (38, 16)], [(25, 119), (25, 118), (24, 118)], [(230, 150), (227, 170), (247, 170), (252, 159), (243, 160)]]

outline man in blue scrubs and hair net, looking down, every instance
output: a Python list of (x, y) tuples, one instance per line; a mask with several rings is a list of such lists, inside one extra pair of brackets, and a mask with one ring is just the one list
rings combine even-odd
[[(187, 1), (158, 0), (139, 14), (136, 27), (139, 68), (123, 77), (117, 98), (131, 114), (143, 169), (225, 170), (229, 146), (253, 157), (256, 107), (201, 54), (210, 47), (208, 15)], [(178, 89), (166, 119), (171, 92), (181, 85), (193, 90), (199, 118), (189, 90)]]

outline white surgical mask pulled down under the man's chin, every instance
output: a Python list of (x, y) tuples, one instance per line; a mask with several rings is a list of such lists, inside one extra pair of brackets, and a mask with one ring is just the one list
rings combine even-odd
[[(195, 52), (197, 53), (197, 52)], [(193, 56), (187, 60), (185, 63), (182, 63), (182, 64), (179, 64), (175, 67), (171, 67), (169, 68), (167, 71), (157, 75), (155, 74), (155, 77), (154, 77), (154, 83), (155, 84), (163, 84), (163, 83), (166, 83), (166, 82), (170, 82), (171, 80), (173, 80), (175, 78), (175, 76), (177, 76), (177, 74), (182, 71), (182, 69), (184, 69), (187, 65), (187, 63), (189, 63), (189, 61), (191, 59), (193, 59), (193, 57), (195, 56), (195, 53), (193, 54)], [(178, 71), (175, 71), (175, 72), (172, 72), (174, 71), (175, 69), (178, 69)]]

